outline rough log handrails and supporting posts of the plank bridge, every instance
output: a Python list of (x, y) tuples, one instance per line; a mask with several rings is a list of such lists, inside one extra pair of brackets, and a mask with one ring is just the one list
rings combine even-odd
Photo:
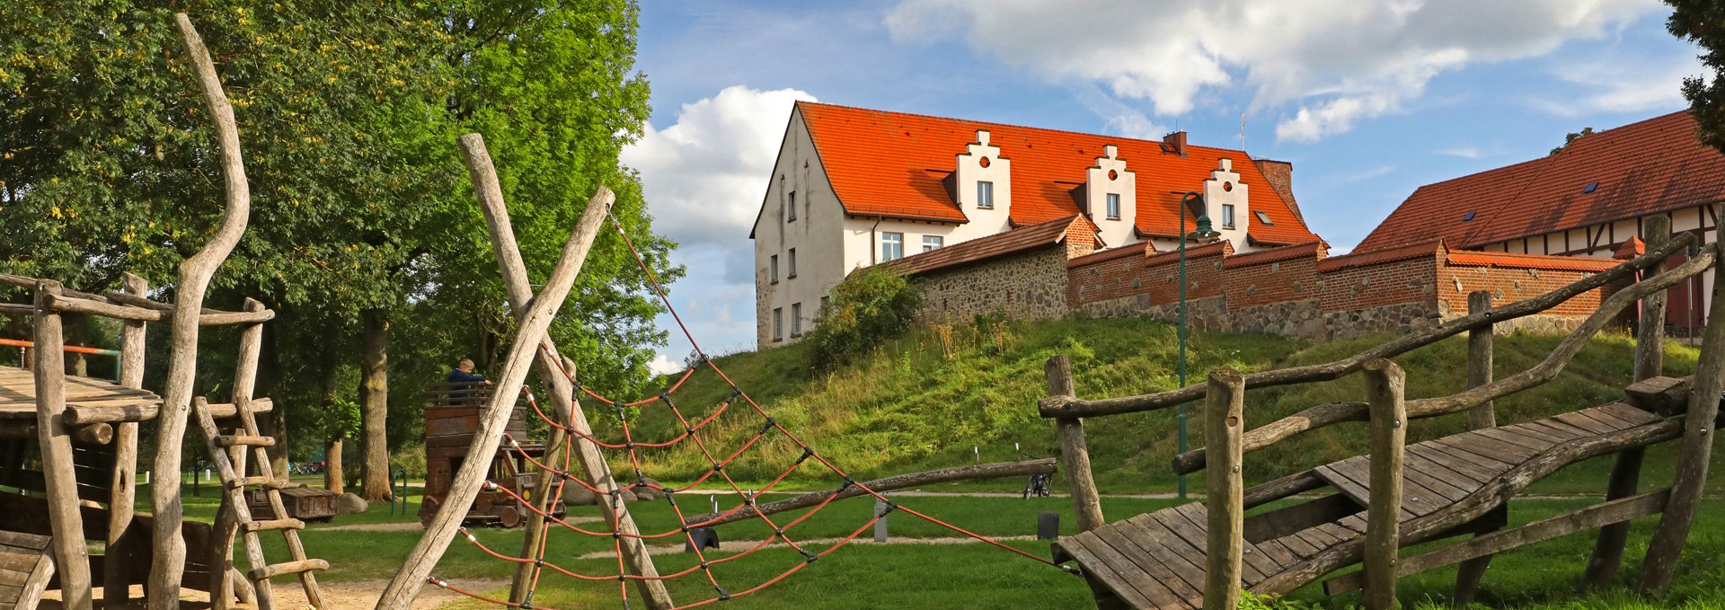
[[(1539, 524), (1542, 527), (1540, 536), (1556, 531), (1577, 531), (1584, 522), (1592, 524), (1587, 527), (1601, 527), (1603, 524), (1594, 558), (1584, 579), (1584, 584), (1597, 586), (1611, 579), (1623, 553), (1623, 519), (1608, 519), (1613, 515), (1649, 514), (1654, 508), (1663, 510), (1665, 517), (1649, 545), (1640, 582), (1646, 589), (1663, 589), (1670, 584), (1677, 555), (1682, 551), (1703, 491), (1711, 450), (1708, 429), (1718, 415), (1716, 396), (1725, 389), (1725, 322), (1713, 324), (1709, 319), (1706, 326), (1701, 362), (1697, 365), (1699, 372), (1689, 396), (1684, 422), (1670, 419), (1568, 443), (1518, 464), (1477, 493), (1456, 501), (1451, 510), (1408, 520), (1401, 519), (1401, 481), (1409, 419), (1468, 412), (1470, 429), (1496, 427), (1494, 400), (1540, 386), (1556, 377), (1594, 334), (1608, 327), (1630, 305), (1642, 305), (1637, 327), (1635, 379), (1658, 376), (1661, 370), (1665, 291), (1709, 269), (1715, 272), (1715, 277), (1725, 277), (1725, 255), (1720, 253), (1725, 248), (1722, 246), (1725, 240), (1718, 238), (1711, 245), (1699, 246), (1699, 253), (1690, 260), (1661, 272), (1659, 269), (1670, 255), (1697, 241), (1697, 234), (1692, 233), (1672, 238), (1668, 222), (1665, 215), (1644, 219), (1649, 252), (1618, 267), (1504, 307), (1492, 307), (1490, 293), (1471, 293), (1470, 314), (1465, 317), (1396, 338), (1328, 364), (1244, 376), (1233, 370), (1216, 370), (1211, 372), (1204, 384), (1140, 396), (1082, 400), (1073, 393), (1071, 370), (1064, 357), (1051, 358), (1049, 396), (1038, 401), (1038, 414), (1056, 420), (1056, 433), (1061, 441), (1063, 460), (1066, 460), (1064, 465), (1080, 527), (1088, 531), (1104, 522), (1097, 508), (1099, 498), (1088, 470), (1082, 417), (1157, 410), (1202, 398), (1206, 400), (1206, 439), (1209, 446), (1175, 457), (1173, 470), (1176, 474), (1189, 474), (1206, 465), (1209, 467), (1206, 608), (1235, 608), (1239, 603), (1244, 510), (1327, 484), (1313, 470), (1304, 470), (1245, 489), (1242, 477), (1244, 453), (1266, 448), (1306, 431), (1354, 420), (1370, 422), (1371, 439), (1370, 472), (1373, 484), (1370, 486), (1370, 503), (1366, 507), (1364, 539), (1323, 550), (1302, 567), (1259, 582), (1258, 589), (1290, 589), (1292, 584), (1306, 582), (1358, 560), (1363, 563), (1363, 570), (1356, 582), (1363, 582), (1366, 589), (1361, 603), (1368, 608), (1390, 608), (1396, 603), (1396, 579), (1399, 574), (1408, 574), (1406, 567), (1397, 567), (1401, 546), (1433, 539), (1446, 531), (1473, 522), (1494, 507), (1502, 505), (1508, 496), (1525, 488), (1527, 482), (1549, 476), (1578, 458), (1606, 453), (1618, 453), (1618, 464), (1608, 489), (1608, 505), (1589, 508), (1590, 512), (1584, 510), (1587, 512), (1585, 515), (1578, 512), (1578, 520), (1570, 526)], [(1715, 231), (1725, 229), (1716, 227)], [(1637, 274), (1640, 272), (1644, 274), (1637, 281)], [(1606, 298), (1594, 314), (1587, 315), (1537, 365), (1504, 379), (1492, 379), (1492, 329), (1496, 324), (1534, 315), (1590, 289), (1625, 281), (1630, 281), (1630, 284)], [(1709, 310), (1725, 310), (1725, 291), (1715, 291), (1711, 307)], [(1470, 333), (1468, 388), (1447, 396), (1406, 400), (1404, 372), (1389, 358), (1461, 333)], [(1245, 429), (1245, 414), (1242, 408), (1245, 388), (1332, 381), (1354, 372), (1363, 372), (1366, 377), (1368, 395), (1364, 401), (1323, 403), (1256, 429)], [(1658, 493), (1658, 507), (1649, 508), (1654, 505), (1654, 495), (1635, 495), (1640, 451), (1649, 443), (1678, 436), (1682, 436), (1684, 443), (1677, 482), (1668, 489), (1668, 495), (1665, 491)], [(1214, 462), (1211, 464), (1211, 460)], [(1508, 539), (1508, 536), (1502, 538)], [(1463, 569), (1456, 582), (1458, 600), (1471, 598), (1490, 560), (1490, 553), (1515, 546), (1506, 539), (1475, 543), (1470, 550), (1451, 553), (1452, 558), (1463, 560)], [(1427, 560), (1444, 562), (1447, 558)]]

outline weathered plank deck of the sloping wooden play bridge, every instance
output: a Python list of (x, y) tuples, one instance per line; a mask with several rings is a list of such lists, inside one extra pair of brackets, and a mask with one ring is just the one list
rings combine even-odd
[[(1402, 476), (1402, 520), (1452, 508), (1516, 465), (1554, 446), (1618, 433), (1661, 417), (1611, 403), (1535, 422), (1463, 433), (1409, 445)], [(1295, 532), (1252, 539), (1247, 517), (1242, 586), (1301, 567), (1318, 553), (1366, 534), (1370, 457), (1352, 457), (1314, 469), (1340, 496), (1346, 515)], [(1327, 500), (1318, 500), (1323, 503)], [(1347, 510), (1347, 508), (1356, 510)], [(1206, 507), (1189, 503), (1120, 520), (1054, 543), (1056, 562), (1078, 562), (1099, 603), (1132, 608), (1201, 608), (1206, 567)], [(1321, 574), (1320, 574), (1321, 576)], [(1316, 579), (1313, 576), (1311, 579)], [(1311, 579), (1304, 579), (1309, 582)], [(1299, 582), (1299, 584), (1304, 584)], [(1292, 588), (1289, 588), (1292, 589)], [(1254, 591), (1287, 593), (1287, 591)]]

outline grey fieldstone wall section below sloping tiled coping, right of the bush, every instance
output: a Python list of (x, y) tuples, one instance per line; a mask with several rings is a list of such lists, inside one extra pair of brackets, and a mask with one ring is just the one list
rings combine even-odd
[(1019, 321), (1066, 315), (1064, 245), (918, 274), (925, 322), (961, 321), (976, 314)]

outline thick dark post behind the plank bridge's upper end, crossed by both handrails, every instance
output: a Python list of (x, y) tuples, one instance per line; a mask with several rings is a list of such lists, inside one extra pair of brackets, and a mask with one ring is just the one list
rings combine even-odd
[[(1647, 250), (1656, 250), (1672, 241), (1672, 221), (1665, 214), (1654, 214), (1642, 221), (1642, 238)], [(1647, 267), (1642, 279), (1656, 276), (1665, 269)], [(1635, 326), (1635, 381), (1658, 377), (1665, 372), (1665, 291), (1647, 295), (1640, 300), (1640, 322)], [(1634, 496), (1640, 486), (1640, 465), (1647, 457), (1642, 446), (1623, 450), (1611, 467), (1611, 479), (1606, 482), (1606, 500)], [(1618, 567), (1623, 565), (1623, 546), (1628, 545), (1628, 522), (1599, 527), (1594, 541), (1594, 555), (1587, 558), (1587, 570), (1582, 574), (1582, 589), (1597, 589), (1616, 579)]]

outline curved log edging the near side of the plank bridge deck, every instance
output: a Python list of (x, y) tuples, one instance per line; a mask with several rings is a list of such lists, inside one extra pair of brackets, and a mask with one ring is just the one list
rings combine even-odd
[[(1544, 453), (1534, 455), (1521, 460), (1516, 467), (1497, 476), (1496, 479), (1480, 486), (1478, 491), (1468, 495), (1466, 498), (1451, 505), (1449, 510), (1439, 510), (1423, 517), (1414, 517), (1401, 524), (1401, 541), (1402, 545), (1418, 545), (1454, 531), (1456, 527), (1466, 526), (1485, 514), (1497, 510), (1511, 496), (1525, 489), (1534, 481), (1551, 476), (1558, 469), (1570, 464), (1616, 453), (1630, 446), (1647, 446), (1654, 443), (1670, 441), (1682, 434), (1682, 422), (1661, 420), (1646, 426), (1637, 426), (1623, 429), (1618, 433), (1582, 438), (1577, 441), (1568, 441), (1558, 445)], [(1292, 565), (1280, 574), (1275, 574), (1264, 581), (1259, 581), (1251, 588), (1252, 593), (1259, 594), (1280, 594), (1294, 591), (1295, 588), (1318, 579), (1320, 576), (1335, 572), (1351, 563), (1358, 563), (1363, 557), (1364, 539), (1352, 539), (1309, 557), (1304, 563)]]

